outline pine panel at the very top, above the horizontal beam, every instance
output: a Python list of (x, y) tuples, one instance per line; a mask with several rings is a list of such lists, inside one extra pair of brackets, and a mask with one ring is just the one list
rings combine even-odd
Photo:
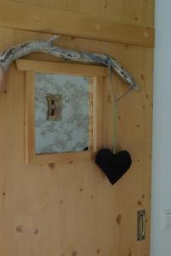
[(115, 22), (138, 26), (154, 25), (155, 0), (9, 0), (9, 2), (98, 15)]

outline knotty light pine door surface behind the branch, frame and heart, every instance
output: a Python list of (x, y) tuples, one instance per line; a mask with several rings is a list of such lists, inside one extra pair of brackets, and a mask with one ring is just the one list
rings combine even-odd
[[(6, 2), (97, 15), (121, 24), (153, 26), (153, 0)], [(7, 10), (7, 15), (8, 11), (10, 15), (12, 10)], [(24, 17), (20, 15), (22, 26)], [(49, 34), (43, 32), (0, 27), (2, 50), (28, 40), (47, 38)], [(141, 91), (131, 91), (118, 108), (117, 148), (130, 152), (133, 165), (114, 186), (94, 162), (25, 165), (26, 77), (12, 65), (7, 93), (0, 95), (0, 255), (148, 256), (153, 49), (69, 36), (60, 38), (58, 45), (112, 55), (140, 84)], [(56, 61), (42, 54), (28, 58)], [(115, 84), (117, 95), (121, 95), (125, 84), (117, 76)], [(146, 212), (143, 241), (137, 241), (139, 210)]]

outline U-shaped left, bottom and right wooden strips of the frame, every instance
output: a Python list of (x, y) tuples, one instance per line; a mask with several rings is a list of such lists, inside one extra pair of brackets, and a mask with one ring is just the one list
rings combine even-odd
[[(70, 65), (70, 64), (69, 64)], [(76, 71), (77, 73), (77, 71)], [(93, 97), (93, 106), (89, 111), (93, 113), (90, 117), (90, 125), (93, 131), (89, 140), (90, 149), (84, 152), (71, 152), (59, 154), (36, 154), (35, 151), (35, 78), (34, 72), (26, 72), (26, 164), (71, 164), (81, 162), (83, 160), (94, 160), (95, 152), (103, 146), (103, 88), (104, 79), (94, 76), (90, 94)], [(91, 104), (92, 105), (92, 104)]]

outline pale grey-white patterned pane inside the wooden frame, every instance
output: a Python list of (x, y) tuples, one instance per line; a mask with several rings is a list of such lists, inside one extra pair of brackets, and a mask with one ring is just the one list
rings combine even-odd
[[(83, 151), (88, 147), (91, 79), (35, 74), (35, 144), (37, 154)], [(48, 120), (48, 95), (61, 96), (61, 118)]]

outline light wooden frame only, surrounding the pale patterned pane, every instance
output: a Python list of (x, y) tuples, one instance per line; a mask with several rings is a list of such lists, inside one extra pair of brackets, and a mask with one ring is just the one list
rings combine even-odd
[[(26, 164), (71, 164), (94, 160), (96, 152), (111, 147), (112, 101), (106, 67), (51, 61), (17, 60), (19, 71), (26, 72)], [(35, 73), (69, 74), (92, 77), (92, 104), (89, 109), (89, 150), (82, 152), (36, 154), (35, 152)], [(105, 124), (107, 122), (107, 127)]]

